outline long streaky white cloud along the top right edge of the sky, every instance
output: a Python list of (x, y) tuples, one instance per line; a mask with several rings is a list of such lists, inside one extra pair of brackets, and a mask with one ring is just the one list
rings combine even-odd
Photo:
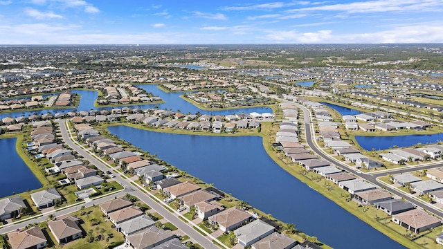
[(310, 8), (298, 8), (288, 10), (288, 12), (300, 11), (343, 11), (349, 13), (370, 13), (370, 12), (424, 12), (424, 11), (440, 11), (443, 6), (441, 0), (374, 0), (360, 1), (354, 3), (338, 3), (325, 6), (316, 6)]

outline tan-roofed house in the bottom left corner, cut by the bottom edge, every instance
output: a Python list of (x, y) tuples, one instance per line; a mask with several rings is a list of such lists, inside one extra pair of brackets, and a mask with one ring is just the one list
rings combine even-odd
[(39, 227), (33, 227), (21, 232), (8, 233), (12, 249), (46, 248), (46, 237)]

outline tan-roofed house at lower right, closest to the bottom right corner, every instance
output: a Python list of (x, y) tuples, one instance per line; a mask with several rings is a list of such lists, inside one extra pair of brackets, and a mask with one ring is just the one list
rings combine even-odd
[(440, 219), (417, 209), (394, 214), (392, 221), (416, 234), (442, 224)]

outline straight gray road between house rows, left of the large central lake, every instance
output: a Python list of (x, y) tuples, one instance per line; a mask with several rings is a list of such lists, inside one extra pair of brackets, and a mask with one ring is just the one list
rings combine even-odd
[[(91, 154), (89, 154), (85, 148), (80, 147), (70, 139), (69, 133), (65, 127), (65, 121), (66, 120), (59, 120), (57, 122), (60, 124), (60, 131), (62, 133), (62, 138), (66, 143), (66, 145), (71, 147), (71, 149), (73, 149), (74, 151), (77, 151), (79, 155), (83, 156), (86, 160), (89, 161), (89, 163), (98, 167), (98, 169), (102, 170), (102, 172), (107, 172), (107, 170), (111, 170), (104, 163), (102, 163), (102, 161), (98, 160), (94, 156), (91, 156)], [(204, 237), (202, 234), (200, 234), (194, 228), (192, 228), (192, 223), (185, 223), (184, 221), (179, 219), (179, 217), (176, 214), (166, 210), (162, 205), (151, 199), (150, 196), (147, 195), (150, 193), (142, 192), (137, 187), (134, 187), (129, 181), (129, 179), (123, 178), (122, 176), (120, 176), (120, 174), (116, 174), (114, 172), (114, 175), (116, 176), (114, 178), (115, 181), (117, 181), (118, 183), (120, 183), (120, 185), (123, 185), (125, 187), (125, 192), (129, 192), (129, 194), (136, 196), (138, 199), (149, 205), (153, 210), (155, 210), (156, 212), (161, 214), (161, 216), (163, 216), (165, 219), (170, 221), (170, 223), (174, 224), (182, 232), (187, 234), (193, 241), (199, 243), (200, 246), (203, 246), (203, 248), (219, 249), (219, 247), (215, 246), (215, 244), (213, 244), (212, 241), (210, 241), (207, 237)]]

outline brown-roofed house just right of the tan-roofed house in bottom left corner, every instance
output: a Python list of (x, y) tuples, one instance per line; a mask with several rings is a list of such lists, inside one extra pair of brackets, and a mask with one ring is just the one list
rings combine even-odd
[(64, 219), (48, 221), (48, 228), (57, 242), (68, 243), (82, 237), (82, 229), (78, 225), (78, 219), (69, 216)]

